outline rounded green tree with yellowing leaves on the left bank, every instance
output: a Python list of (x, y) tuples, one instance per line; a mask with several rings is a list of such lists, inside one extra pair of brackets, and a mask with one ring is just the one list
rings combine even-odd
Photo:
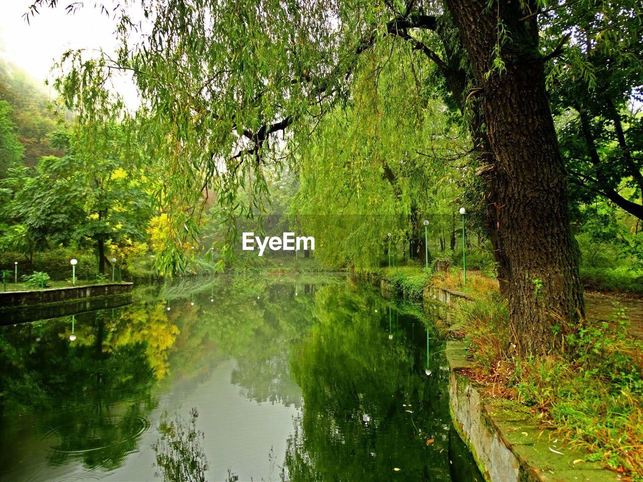
[(136, 159), (125, 156), (120, 125), (58, 132), (53, 143), (65, 156), (43, 157), (33, 175), (23, 168), (8, 180), (16, 186), (8, 215), (25, 227), (31, 256), (47, 242), (91, 245), (104, 273), (108, 243), (145, 240), (153, 183)]

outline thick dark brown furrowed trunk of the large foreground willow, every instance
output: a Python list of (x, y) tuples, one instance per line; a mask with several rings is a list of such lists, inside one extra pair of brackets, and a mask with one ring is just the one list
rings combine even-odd
[[(523, 19), (529, 12), (521, 2), (447, 4), (481, 89), (478, 102), (496, 159), (485, 181), (497, 203), (512, 337), (520, 353), (552, 352), (560, 340), (552, 325), (563, 333), (574, 330), (584, 308), (536, 16)], [(499, 20), (511, 37), (502, 46), (502, 73), (492, 70)]]

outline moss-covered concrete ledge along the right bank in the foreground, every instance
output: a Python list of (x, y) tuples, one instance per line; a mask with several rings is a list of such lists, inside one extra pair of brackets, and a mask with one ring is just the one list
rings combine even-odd
[[(489, 482), (614, 482), (619, 476), (543, 429), (526, 407), (485, 403), (484, 390), (458, 370), (471, 367), (466, 345), (448, 341), (453, 425)], [(509, 402), (511, 403), (511, 402)], [(554, 452), (555, 451), (555, 452)]]

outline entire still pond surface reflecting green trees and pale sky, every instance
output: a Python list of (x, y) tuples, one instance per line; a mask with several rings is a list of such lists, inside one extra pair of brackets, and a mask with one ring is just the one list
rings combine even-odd
[(482, 481), (421, 307), (343, 277), (209, 283), (0, 328), (0, 480)]

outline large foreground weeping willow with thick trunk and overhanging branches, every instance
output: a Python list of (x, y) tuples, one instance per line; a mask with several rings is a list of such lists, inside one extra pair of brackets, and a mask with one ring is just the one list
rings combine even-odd
[[(56, 87), (78, 121), (111, 120), (123, 114), (106, 89), (109, 77), (131, 73), (143, 99), (131, 116), (165, 173), (158, 199), (172, 220), (157, 259), (181, 269), (204, 199), (229, 213), (233, 237), (233, 213), (262, 211), (265, 167), (291, 160), (345, 103), (359, 58), (385, 40), (408, 44), (435, 64), (440, 78), (432, 82), (467, 121), (514, 344), (545, 353), (559, 348), (552, 325), (570, 332), (583, 314), (545, 65), (581, 44), (578, 8), (593, 19), (592, 40), (566, 58), (570, 68), (591, 71), (587, 59), (597, 47), (641, 58), (629, 35), (640, 26), (638, 0), (580, 0), (574, 10), (568, 3), (105, 0), (97, 4), (114, 16), (120, 48), (98, 58), (67, 53)], [(57, 4), (37, 0), (27, 18)], [(388, 61), (403, 60), (392, 51)], [(239, 199), (247, 179), (250, 195)]]

